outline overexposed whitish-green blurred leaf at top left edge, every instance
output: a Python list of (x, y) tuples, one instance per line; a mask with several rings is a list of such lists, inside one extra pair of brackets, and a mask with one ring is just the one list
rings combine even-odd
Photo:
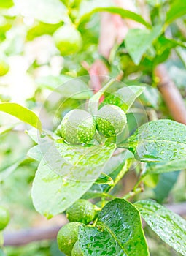
[(44, 23), (56, 24), (67, 21), (68, 10), (60, 0), (14, 0), (21, 15), (35, 18)]

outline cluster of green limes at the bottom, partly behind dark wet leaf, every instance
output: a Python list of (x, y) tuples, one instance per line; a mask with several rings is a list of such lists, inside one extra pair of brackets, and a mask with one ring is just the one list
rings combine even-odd
[(66, 211), (69, 223), (58, 232), (58, 248), (66, 255), (81, 256), (82, 251), (78, 242), (78, 230), (81, 225), (88, 224), (96, 218), (96, 206), (88, 200), (77, 200)]

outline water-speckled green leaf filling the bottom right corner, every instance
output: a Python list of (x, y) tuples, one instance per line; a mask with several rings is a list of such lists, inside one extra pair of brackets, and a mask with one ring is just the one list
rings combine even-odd
[(152, 200), (140, 200), (135, 203), (135, 206), (139, 209), (145, 222), (166, 244), (185, 255), (185, 219)]

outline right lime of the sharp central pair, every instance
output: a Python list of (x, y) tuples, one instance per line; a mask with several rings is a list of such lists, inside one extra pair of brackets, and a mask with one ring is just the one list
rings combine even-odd
[(106, 137), (120, 135), (127, 124), (125, 112), (116, 105), (105, 105), (96, 116), (98, 132)]

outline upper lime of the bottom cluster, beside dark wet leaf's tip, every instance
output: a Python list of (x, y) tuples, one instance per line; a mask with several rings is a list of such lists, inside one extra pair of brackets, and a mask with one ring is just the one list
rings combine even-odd
[(95, 218), (95, 206), (88, 200), (79, 199), (66, 210), (66, 217), (70, 222), (88, 224)]

